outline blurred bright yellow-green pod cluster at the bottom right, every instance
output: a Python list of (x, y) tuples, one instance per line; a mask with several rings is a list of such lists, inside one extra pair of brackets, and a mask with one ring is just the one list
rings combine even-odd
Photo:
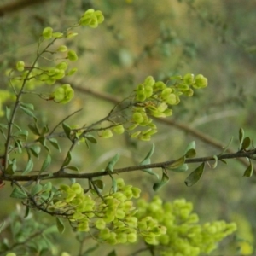
[(211, 253), (218, 241), (229, 236), (236, 230), (236, 224), (224, 221), (198, 224), (199, 218), (193, 213), (193, 205), (184, 199), (172, 203), (155, 196), (153, 201), (138, 201), (137, 218), (152, 216), (159, 224), (166, 227), (166, 234), (145, 239), (154, 244), (159, 255), (198, 256), (201, 253)]

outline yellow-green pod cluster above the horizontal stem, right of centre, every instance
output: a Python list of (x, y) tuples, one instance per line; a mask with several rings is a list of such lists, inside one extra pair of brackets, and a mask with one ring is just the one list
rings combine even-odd
[(148, 76), (142, 84), (138, 84), (135, 90), (134, 105), (132, 107), (131, 121), (133, 125), (129, 127), (133, 131), (138, 126), (147, 127), (131, 133), (131, 137), (137, 137), (143, 141), (149, 141), (151, 136), (157, 132), (156, 125), (149, 116), (155, 118), (166, 118), (172, 115), (172, 105), (180, 102), (180, 96), (193, 96), (193, 89), (201, 89), (207, 86), (207, 78), (199, 74), (197, 76), (187, 73), (186, 75), (175, 77), (175, 83), (167, 86), (162, 81), (155, 81), (152, 76)]

